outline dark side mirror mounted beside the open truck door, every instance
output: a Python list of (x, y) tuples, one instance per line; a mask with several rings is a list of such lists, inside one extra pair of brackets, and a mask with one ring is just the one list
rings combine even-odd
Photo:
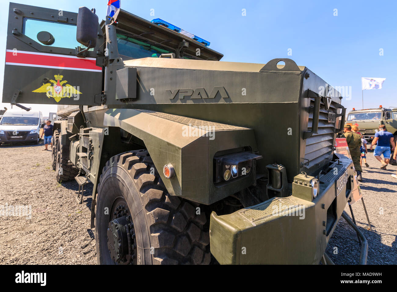
[(97, 37), (98, 15), (95, 14), (95, 10), (91, 11), (84, 6), (80, 7), (79, 15), (77, 15), (76, 40), (89, 49), (96, 46)]

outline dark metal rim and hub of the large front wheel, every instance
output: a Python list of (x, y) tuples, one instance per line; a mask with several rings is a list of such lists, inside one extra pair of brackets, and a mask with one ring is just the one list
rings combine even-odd
[(118, 206), (107, 230), (110, 257), (119, 264), (128, 264), (135, 258), (135, 232), (128, 213), (124, 205)]

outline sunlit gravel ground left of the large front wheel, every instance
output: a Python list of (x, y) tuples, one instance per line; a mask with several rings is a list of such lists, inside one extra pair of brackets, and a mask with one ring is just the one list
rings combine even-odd
[(58, 184), (51, 151), (42, 149), (42, 141), (0, 146), (0, 205), (31, 206), (31, 219), (29, 209), (0, 219), (0, 264), (96, 264), (92, 184), (79, 205), (77, 182)]

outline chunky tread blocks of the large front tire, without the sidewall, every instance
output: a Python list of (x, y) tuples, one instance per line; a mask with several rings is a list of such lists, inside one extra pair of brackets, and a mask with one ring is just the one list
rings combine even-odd
[(168, 194), (146, 150), (112, 157), (102, 174), (116, 164), (129, 173), (141, 195), (154, 263), (209, 264), (209, 228), (204, 213), (196, 214), (199, 204)]

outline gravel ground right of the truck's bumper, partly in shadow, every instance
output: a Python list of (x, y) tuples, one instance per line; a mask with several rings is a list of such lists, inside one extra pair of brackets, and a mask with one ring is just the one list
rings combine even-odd
[[(366, 157), (370, 167), (362, 167), (360, 188), (372, 231), (368, 230), (368, 221), (361, 200), (352, 205), (353, 214), (358, 228), (368, 241), (367, 264), (396, 265), (397, 180), (390, 174), (395, 174), (397, 167), (388, 165), (387, 170), (380, 169), (380, 162), (369, 149)], [(345, 212), (351, 218), (349, 205), (346, 205)], [(337, 250), (337, 254), (334, 254), (334, 250)], [(328, 242), (326, 253), (336, 265), (358, 264), (360, 250), (356, 232), (341, 217)]]

